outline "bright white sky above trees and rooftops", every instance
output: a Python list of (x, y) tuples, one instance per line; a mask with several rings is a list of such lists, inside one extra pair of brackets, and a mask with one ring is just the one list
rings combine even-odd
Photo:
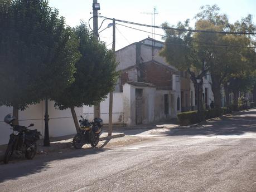
[[(227, 14), (231, 23), (246, 17), (248, 14), (252, 14), (254, 16), (253, 21), (256, 24), (255, 0), (98, 0), (98, 3), (100, 3), (100, 16), (150, 25), (152, 24), (151, 14), (144, 13), (152, 13), (153, 9), (156, 8), (158, 13), (155, 15), (156, 26), (160, 26), (163, 22), (168, 22), (172, 26), (178, 21), (185, 21), (189, 18), (191, 27), (194, 27), (196, 13), (200, 12), (200, 7), (206, 4), (217, 4), (220, 7), (220, 13)], [(49, 6), (59, 9), (60, 16), (65, 17), (66, 24), (71, 27), (79, 25), (81, 21), (88, 23), (89, 18), (93, 16), (90, 14), (90, 12), (93, 12), (92, 4), (93, 0), (49, 0)], [(98, 19), (99, 26), (102, 21), (102, 18)], [(99, 31), (107, 27), (110, 22), (112, 21), (104, 21)], [(91, 19), (90, 25), (93, 28), (93, 19)], [(152, 29), (149, 27), (128, 26), (139, 28), (149, 33), (120, 26), (117, 22), (115, 50), (119, 50), (133, 42), (141, 41), (148, 36), (151, 37)], [(113, 29), (110, 27), (99, 33), (100, 41), (104, 41), (108, 48), (112, 48), (112, 32)], [(164, 35), (162, 29), (155, 29), (155, 33)], [(161, 41), (161, 36), (155, 35), (154, 38)]]

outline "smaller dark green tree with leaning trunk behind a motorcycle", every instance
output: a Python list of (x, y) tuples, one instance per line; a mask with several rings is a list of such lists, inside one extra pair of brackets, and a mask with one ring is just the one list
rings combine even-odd
[(75, 63), (75, 81), (54, 100), (60, 110), (71, 110), (76, 131), (79, 132), (75, 107), (95, 105), (105, 99), (113, 90), (118, 74), (115, 72), (115, 53), (107, 50), (103, 42), (96, 41), (85, 23), (75, 27), (74, 31), (80, 39), (81, 53), (80, 60)]

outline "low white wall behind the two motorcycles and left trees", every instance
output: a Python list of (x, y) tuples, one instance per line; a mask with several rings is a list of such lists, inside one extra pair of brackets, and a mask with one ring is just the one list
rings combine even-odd
[[(75, 134), (75, 125), (70, 110), (57, 110), (54, 107), (54, 101), (48, 102), (49, 111), (49, 135), (50, 137), (57, 137), (63, 135)], [(76, 108), (76, 115), (80, 116), (83, 114), (82, 108)], [(1, 106), (0, 107), (0, 145), (7, 144), (9, 140), (9, 134), (12, 130), (9, 129), (3, 121), (4, 116), (12, 113), (12, 107)], [(40, 104), (30, 105), (25, 111), (19, 112), (19, 124), (28, 126), (35, 124), (30, 129), (37, 129), (41, 132), (42, 137), (44, 136), (45, 122), (45, 102), (42, 101)]]

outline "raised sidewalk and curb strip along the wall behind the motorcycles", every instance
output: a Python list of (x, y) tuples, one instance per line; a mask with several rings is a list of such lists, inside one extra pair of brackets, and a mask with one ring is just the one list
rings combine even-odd
[[(124, 133), (113, 134), (112, 136), (104, 136), (100, 137), (100, 141), (114, 139), (119, 137), (124, 137)], [(37, 143), (37, 153), (47, 154), (48, 152), (59, 151), (61, 149), (67, 149), (72, 146), (73, 138), (61, 141), (53, 141), (50, 142), (50, 147), (42, 146), (42, 142)], [(6, 150), (7, 145), (0, 145), (0, 161), (3, 161), (4, 152)]]

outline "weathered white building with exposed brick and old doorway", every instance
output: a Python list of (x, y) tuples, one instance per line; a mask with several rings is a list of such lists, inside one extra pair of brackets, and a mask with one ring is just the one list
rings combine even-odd
[[(113, 124), (148, 124), (176, 118), (181, 111), (180, 76), (159, 55), (164, 43), (146, 38), (116, 52), (120, 78), (113, 93)], [(109, 100), (100, 104), (108, 124)], [(84, 114), (93, 119), (93, 107)]]

